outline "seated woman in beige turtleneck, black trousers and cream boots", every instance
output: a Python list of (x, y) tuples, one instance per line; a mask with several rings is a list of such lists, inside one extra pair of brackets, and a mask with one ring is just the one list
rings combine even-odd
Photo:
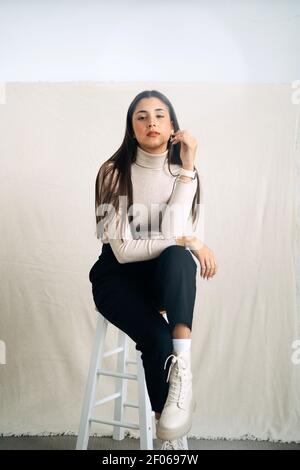
[(103, 246), (89, 279), (97, 309), (142, 352), (162, 448), (180, 448), (195, 407), (192, 255), (203, 278), (217, 271), (213, 252), (193, 231), (200, 200), (197, 142), (179, 130), (172, 104), (156, 90), (134, 98), (126, 124), (122, 145), (96, 178), (97, 237)]

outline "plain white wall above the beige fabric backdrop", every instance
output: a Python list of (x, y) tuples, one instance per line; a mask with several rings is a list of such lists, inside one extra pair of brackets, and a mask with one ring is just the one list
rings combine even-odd
[(299, 0), (0, 0), (2, 81), (290, 83)]

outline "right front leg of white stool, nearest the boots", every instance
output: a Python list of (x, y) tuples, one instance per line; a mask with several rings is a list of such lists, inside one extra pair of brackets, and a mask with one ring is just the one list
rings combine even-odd
[(141, 351), (136, 350), (136, 359), (138, 374), (140, 449), (153, 450), (153, 413), (145, 381)]

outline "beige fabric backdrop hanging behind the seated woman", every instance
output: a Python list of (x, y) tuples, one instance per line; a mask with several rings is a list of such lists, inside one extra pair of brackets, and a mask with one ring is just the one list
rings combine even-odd
[[(88, 272), (101, 251), (94, 181), (123, 139), (130, 101), (152, 88), (170, 98), (180, 127), (198, 139), (205, 242), (219, 264), (213, 280), (199, 274), (197, 281), (198, 407), (189, 435), (299, 442), (300, 365), (291, 360), (292, 342), (300, 338), (299, 105), (289, 85), (6, 84), (0, 433), (77, 433), (96, 324)], [(107, 347), (116, 338), (110, 326)], [(113, 390), (112, 380), (101, 380), (99, 397)], [(134, 401), (134, 383), (129, 393)], [(111, 405), (102, 410), (109, 416)], [(127, 417), (135, 419), (136, 410)]]

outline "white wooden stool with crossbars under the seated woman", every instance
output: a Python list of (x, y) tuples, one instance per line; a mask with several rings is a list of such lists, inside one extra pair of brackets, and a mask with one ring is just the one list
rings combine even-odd
[[(86, 383), (85, 395), (81, 411), (80, 425), (78, 438), (76, 443), (76, 450), (86, 450), (88, 447), (89, 434), (91, 423), (103, 423), (113, 426), (113, 439), (124, 439), (124, 428), (139, 429), (140, 430), (140, 449), (152, 450), (153, 449), (153, 417), (151, 403), (145, 382), (144, 367), (141, 359), (141, 351), (136, 350), (136, 361), (130, 361), (128, 357), (129, 340), (132, 339), (122, 330), (119, 329), (118, 333), (118, 347), (104, 352), (104, 342), (107, 332), (108, 320), (98, 311), (98, 321), (96, 334), (94, 337), (88, 378)], [(108, 357), (113, 354), (118, 354), (117, 371), (105, 371), (101, 369), (103, 357)], [(130, 374), (127, 372), (127, 364), (136, 364), (137, 373)], [(95, 401), (96, 387), (98, 377), (106, 375), (116, 378), (116, 392), (112, 395)], [(138, 382), (138, 404), (130, 403), (127, 401), (127, 381), (124, 379), (136, 380)], [(92, 416), (93, 409), (96, 406), (107, 403), (111, 400), (116, 400), (114, 404), (114, 419), (105, 420), (98, 419)], [(124, 422), (124, 409), (125, 407), (138, 408), (138, 423)]]

